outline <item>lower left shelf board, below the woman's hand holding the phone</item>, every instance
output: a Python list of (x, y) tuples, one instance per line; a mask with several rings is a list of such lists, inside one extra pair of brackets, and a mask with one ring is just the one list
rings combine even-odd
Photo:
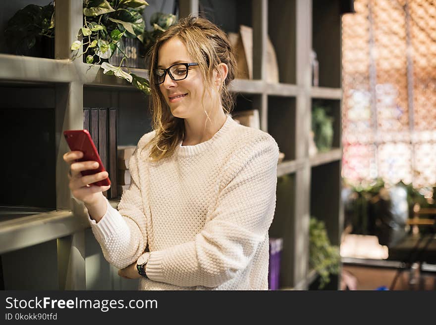
[[(23, 211), (23, 214), (26, 213)], [(7, 219), (4, 211), (2, 218)], [(63, 237), (84, 228), (68, 210), (0, 221), (0, 254)]]

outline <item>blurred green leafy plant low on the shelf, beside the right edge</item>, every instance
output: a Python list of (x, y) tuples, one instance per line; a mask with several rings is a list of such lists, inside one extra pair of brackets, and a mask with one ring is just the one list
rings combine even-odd
[(339, 247), (330, 244), (324, 222), (311, 217), (309, 225), (309, 265), (320, 275), (320, 289), (330, 282), (331, 274), (338, 274), (339, 261)]

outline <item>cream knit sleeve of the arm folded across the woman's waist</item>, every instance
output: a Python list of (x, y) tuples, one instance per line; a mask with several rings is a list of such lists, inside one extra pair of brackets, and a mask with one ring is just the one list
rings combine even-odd
[(216, 287), (248, 266), (272, 223), (278, 147), (267, 135), (235, 157), (204, 229), (193, 241), (151, 252), (146, 266), (150, 279)]

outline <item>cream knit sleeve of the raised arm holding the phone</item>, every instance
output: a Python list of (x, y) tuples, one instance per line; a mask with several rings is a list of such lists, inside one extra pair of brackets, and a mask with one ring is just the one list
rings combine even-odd
[(123, 193), (118, 211), (108, 202), (108, 210), (91, 229), (102, 247), (106, 260), (122, 269), (135, 262), (147, 245), (147, 200), (140, 190), (137, 151), (129, 161), (131, 183)]

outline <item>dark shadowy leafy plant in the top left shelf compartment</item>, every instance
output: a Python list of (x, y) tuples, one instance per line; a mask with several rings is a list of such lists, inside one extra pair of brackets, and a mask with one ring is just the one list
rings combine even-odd
[(17, 55), (30, 55), (43, 37), (54, 38), (52, 2), (45, 6), (29, 4), (18, 10), (4, 30), (7, 47)]

